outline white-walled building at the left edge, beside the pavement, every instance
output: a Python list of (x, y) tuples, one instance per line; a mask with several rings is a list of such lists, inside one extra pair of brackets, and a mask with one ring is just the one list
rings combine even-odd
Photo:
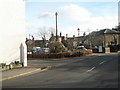
[(27, 66), (25, 1), (0, 0), (0, 63)]

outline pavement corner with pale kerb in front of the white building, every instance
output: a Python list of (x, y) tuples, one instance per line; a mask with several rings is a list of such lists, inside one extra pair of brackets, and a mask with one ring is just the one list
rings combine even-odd
[(2, 72), (2, 79), (0, 81), (13, 79), (20, 76), (27, 76), (37, 72), (43, 72), (50, 69), (49, 65), (39, 65), (39, 64), (28, 64), (27, 67), (15, 68), (12, 70), (7, 70)]

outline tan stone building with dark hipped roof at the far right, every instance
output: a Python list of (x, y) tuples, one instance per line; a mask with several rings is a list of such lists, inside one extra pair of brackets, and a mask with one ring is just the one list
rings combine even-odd
[(86, 36), (88, 44), (91, 46), (108, 46), (120, 44), (120, 32), (111, 29), (103, 29), (100, 31), (94, 31)]

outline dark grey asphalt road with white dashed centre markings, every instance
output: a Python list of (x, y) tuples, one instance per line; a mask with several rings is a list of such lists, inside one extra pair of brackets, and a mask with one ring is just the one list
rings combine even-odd
[(40, 64), (43, 63), (54, 67), (45, 72), (5, 80), (3, 88), (118, 88), (118, 54), (44, 60)]

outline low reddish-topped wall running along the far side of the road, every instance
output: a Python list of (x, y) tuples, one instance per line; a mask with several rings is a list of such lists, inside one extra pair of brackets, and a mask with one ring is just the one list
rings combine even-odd
[(61, 53), (33, 53), (27, 54), (28, 58), (63, 58), (63, 57), (77, 57), (92, 55), (92, 50), (81, 50), (72, 52), (61, 52)]

